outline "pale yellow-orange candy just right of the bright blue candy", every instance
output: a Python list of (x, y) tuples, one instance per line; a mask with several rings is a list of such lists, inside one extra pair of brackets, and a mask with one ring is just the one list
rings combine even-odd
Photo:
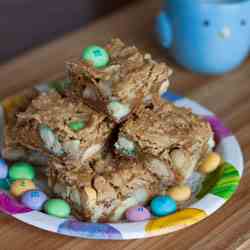
[(186, 201), (191, 197), (192, 190), (188, 185), (180, 185), (170, 188), (167, 194), (177, 202)]

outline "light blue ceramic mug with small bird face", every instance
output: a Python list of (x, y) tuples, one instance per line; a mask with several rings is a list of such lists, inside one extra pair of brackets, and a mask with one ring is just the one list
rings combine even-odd
[(167, 0), (156, 30), (177, 63), (198, 73), (222, 74), (248, 56), (250, 0)]

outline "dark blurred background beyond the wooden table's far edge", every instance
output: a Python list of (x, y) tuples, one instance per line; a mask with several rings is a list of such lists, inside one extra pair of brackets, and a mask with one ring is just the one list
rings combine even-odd
[(0, 0), (0, 63), (132, 0)]

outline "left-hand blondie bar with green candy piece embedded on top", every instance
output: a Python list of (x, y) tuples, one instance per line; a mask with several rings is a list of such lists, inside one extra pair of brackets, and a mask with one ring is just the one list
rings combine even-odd
[(104, 149), (112, 128), (106, 115), (51, 91), (40, 93), (17, 114), (13, 133), (26, 148), (83, 162)]

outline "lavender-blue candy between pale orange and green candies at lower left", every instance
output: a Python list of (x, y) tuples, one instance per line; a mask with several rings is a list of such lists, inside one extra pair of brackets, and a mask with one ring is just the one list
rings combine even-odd
[(21, 197), (21, 202), (33, 210), (41, 210), (44, 202), (48, 199), (47, 195), (40, 190), (30, 190)]

